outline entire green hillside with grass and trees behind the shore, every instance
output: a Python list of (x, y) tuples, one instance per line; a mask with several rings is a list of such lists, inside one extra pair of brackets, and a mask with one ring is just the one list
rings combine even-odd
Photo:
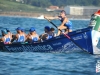
[[(22, 11), (22, 12), (46, 12), (45, 8), (50, 5), (59, 7), (67, 5), (100, 6), (100, 0), (0, 0), (0, 12)], [(46, 12), (48, 13), (48, 12)]]

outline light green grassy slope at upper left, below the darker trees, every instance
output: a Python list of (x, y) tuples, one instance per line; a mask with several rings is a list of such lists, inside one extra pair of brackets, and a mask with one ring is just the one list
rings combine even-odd
[(26, 5), (12, 0), (0, 0), (0, 11), (44, 12), (44, 8)]

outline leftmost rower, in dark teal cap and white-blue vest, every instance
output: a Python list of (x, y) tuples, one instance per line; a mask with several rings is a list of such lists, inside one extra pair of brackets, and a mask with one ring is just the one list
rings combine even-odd
[(2, 38), (1, 38), (1, 42), (3, 42), (4, 44), (11, 44), (11, 39), (12, 37), (10, 35), (8, 35), (8, 33), (5, 30), (1, 30), (2, 33)]

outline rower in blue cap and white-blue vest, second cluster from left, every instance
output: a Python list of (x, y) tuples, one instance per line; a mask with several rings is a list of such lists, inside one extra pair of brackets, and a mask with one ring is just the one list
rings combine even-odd
[(16, 34), (16, 42), (25, 42), (26, 40), (26, 35), (23, 33), (22, 28), (18, 27), (16, 29), (17, 34)]

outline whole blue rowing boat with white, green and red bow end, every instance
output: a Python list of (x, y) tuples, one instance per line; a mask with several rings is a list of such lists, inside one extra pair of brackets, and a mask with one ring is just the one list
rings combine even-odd
[[(48, 20), (49, 21), (49, 20)], [(56, 28), (57, 26), (49, 21)], [(100, 38), (100, 10), (91, 16), (87, 28), (54, 37), (41, 43), (0, 43), (0, 51), (6, 52), (66, 52), (83, 50), (91, 54), (100, 54), (97, 44)], [(97, 50), (98, 49), (98, 50)]]

